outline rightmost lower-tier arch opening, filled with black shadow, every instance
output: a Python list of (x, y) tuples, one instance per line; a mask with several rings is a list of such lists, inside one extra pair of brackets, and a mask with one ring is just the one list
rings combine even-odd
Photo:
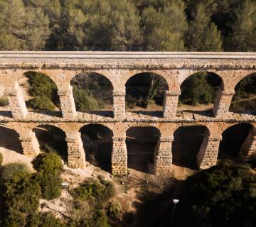
[(239, 152), (247, 135), (252, 130), (249, 123), (239, 123), (230, 126), (223, 133), (223, 139), (220, 141), (218, 159), (239, 160)]

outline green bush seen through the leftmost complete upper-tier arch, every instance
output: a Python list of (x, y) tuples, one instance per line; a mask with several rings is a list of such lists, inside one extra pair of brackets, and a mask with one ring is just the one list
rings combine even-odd
[(56, 84), (46, 74), (40, 72), (26, 72), (30, 84), (28, 92), (33, 98), (28, 106), (36, 110), (52, 111), (59, 106)]

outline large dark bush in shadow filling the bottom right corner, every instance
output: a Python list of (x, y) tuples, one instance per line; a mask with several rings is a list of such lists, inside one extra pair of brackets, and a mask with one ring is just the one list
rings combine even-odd
[(256, 224), (255, 172), (250, 166), (220, 162), (189, 177), (181, 192), (176, 213), (186, 215), (178, 218), (179, 224), (175, 226), (193, 223), (194, 226), (250, 227)]

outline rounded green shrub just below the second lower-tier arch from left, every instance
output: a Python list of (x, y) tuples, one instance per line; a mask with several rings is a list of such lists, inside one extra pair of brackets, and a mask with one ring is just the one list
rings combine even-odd
[(63, 170), (63, 164), (55, 152), (42, 153), (33, 160), (33, 167), (43, 174), (58, 175)]

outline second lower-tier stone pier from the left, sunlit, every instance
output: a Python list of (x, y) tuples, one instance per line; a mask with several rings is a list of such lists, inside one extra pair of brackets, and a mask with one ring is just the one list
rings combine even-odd
[(83, 149), (81, 134), (79, 132), (68, 133), (65, 140), (68, 145), (68, 167), (85, 167), (85, 150)]

